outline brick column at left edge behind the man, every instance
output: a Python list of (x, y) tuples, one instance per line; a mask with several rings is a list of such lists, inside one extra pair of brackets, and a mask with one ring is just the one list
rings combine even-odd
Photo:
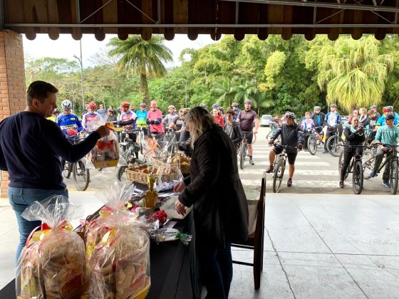
[[(24, 110), (26, 83), (22, 36), (0, 31), (0, 121)], [(8, 172), (1, 172), (0, 197), (7, 196)]]

